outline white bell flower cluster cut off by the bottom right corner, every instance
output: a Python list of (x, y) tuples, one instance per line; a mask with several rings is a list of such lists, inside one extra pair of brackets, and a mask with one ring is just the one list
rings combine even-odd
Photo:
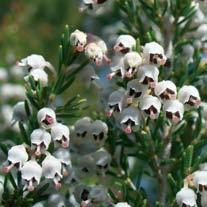
[[(192, 187), (192, 189), (191, 189)], [(193, 190), (196, 188), (196, 192)], [(179, 206), (197, 206), (197, 194), (201, 195), (201, 206), (207, 205), (207, 164), (201, 164), (200, 169), (188, 175), (185, 186), (176, 194)]]

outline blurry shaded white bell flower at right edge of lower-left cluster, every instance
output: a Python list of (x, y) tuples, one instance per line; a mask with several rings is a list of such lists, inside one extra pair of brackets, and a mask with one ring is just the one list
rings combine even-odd
[(68, 149), (59, 148), (57, 151), (54, 152), (54, 156), (60, 160), (62, 164), (62, 174), (64, 176), (68, 176), (68, 168), (71, 167), (71, 157), (70, 152)]

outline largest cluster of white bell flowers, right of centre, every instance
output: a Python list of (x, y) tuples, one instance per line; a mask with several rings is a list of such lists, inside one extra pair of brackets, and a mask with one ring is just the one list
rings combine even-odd
[(127, 134), (142, 126), (147, 117), (157, 119), (161, 110), (168, 120), (177, 124), (183, 119), (185, 110), (200, 105), (198, 90), (184, 85), (177, 92), (172, 81), (159, 81), (158, 67), (169, 62), (161, 45), (146, 43), (140, 54), (134, 51), (135, 46), (135, 39), (129, 35), (121, 35), (116, 41), (114, 50), (123, 55), (108, 78), (121, 76), (127, 80), (127, 86), (110, 94), (107, 115), (113, 115)]

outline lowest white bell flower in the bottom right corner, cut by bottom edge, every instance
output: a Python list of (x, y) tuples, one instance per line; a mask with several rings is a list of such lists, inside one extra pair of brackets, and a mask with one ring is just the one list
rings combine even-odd
[(195, 192), (187, 187), (182, 188), (176, 194), (176, 201), (180, 207), (197, 207), (196, 200), (197, 195), (195, 194)]

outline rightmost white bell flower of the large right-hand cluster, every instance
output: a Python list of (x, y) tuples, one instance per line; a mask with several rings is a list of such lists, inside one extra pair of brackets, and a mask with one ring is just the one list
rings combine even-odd
[(183, 103), (188, 110), (191, 107), (198, 107), (201, 103), (201, 98), (198, 89), (195, 86), (183, 86), (178, 92), (178, 99)]

